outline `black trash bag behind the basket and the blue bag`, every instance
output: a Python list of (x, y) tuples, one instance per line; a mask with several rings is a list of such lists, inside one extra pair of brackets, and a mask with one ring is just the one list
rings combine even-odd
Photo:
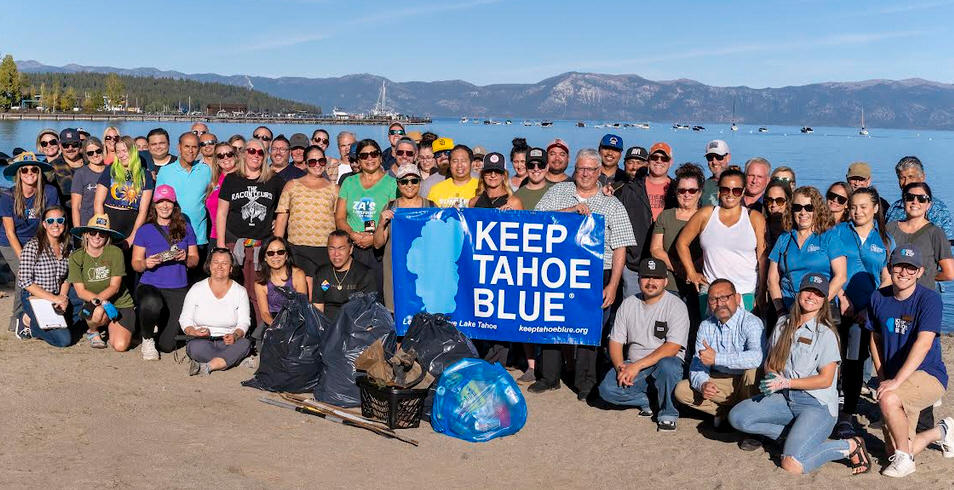
[[(467, 338), (447, 317), (441, 314), (418, 313), (411, 319), (411, 325), (404, 334), (401, 348), (414, 349), (421, 364), (434, 379), (440, 379), (445, 369), (461, 359), (469, 357), (480, 359), (474, 343)], [(431, 416), (437, 383), (431, 385), (424, 399), (424, 417)]]

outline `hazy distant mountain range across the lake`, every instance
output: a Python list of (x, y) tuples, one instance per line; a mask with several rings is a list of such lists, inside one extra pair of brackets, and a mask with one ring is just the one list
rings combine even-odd
[(753, 89), (714, 87), (693, 80), (653, 81), (636, 75), (568, 72), (533, 84), (477, 86), (462, 80), (391, 82), (368, 74), (336, 78), (186, 74), (155, 68), (47, 66), (18, 61), (27, 73), (116, 72), (255, 88), (330, 110), (365, 112), (387, 83), (388, 106), (431, 117), (586, 119), (608, 122), (672, 121), (793, 126), (954, 129), (954, 85), (922, 79), (828, 82)]

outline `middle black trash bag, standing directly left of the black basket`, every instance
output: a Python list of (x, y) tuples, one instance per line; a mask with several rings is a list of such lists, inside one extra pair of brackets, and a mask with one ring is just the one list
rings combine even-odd
[(384, 352), (393, 356), (396, 337), (391, 313), (377, 302), (376, 293), (352, 294), (325, 337), (315, 400), (345, 408), (359, 406), (361, 391), (355, 384), (354, 361), (378, 339), (384, 339)]

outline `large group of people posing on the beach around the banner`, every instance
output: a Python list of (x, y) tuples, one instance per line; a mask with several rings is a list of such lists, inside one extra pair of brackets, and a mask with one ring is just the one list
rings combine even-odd
[(636, 407), (660, 431), (676, 430), (681, 404), (753, 436), (743, 449), (784, 440), (786, 470), (846, 459), (862, 473), (872, 460), (854, 417), (869, 389), (884, 474), (910, 474), (934, 442), (954, 457), (954, 419), (935, 424), (932, 410), (947, 386), (935, 285), (954, 279), (954, 221), (916, 157), (896, 165), (902, 198), (889, 205), (867, 163), (823, 194), (765, 158), (736, 166), (721, 140), (705, 147), (707, 177), (694, 163), (671, 176), (665, 142), (624, 150), (613, 134), (569, 171), (559, 138), (516, 138), (505, 156), (397, 123), (387, 133), (382, 148), (343, 131), (334, 158), (321, 129), (220, 141), (196, 123), (178, 155), (163, 129), (41, 131), (36, 153), (14, 151), (3, 170), (11, 329), (71, 345), (71, 328), (40, 322), (52, 308), (93, 348), (140, 344), (158, 360), (187, 342), (190, 374), (206, 375), (254, 365), (283, 290), (331, 318), (357, 291), (393, 311), (398, 208), (593, 213), (605, 223), (604, 345), (479, 343), (485, 359), (525, 367), (529, 392), (572, 372), (580, 400)]

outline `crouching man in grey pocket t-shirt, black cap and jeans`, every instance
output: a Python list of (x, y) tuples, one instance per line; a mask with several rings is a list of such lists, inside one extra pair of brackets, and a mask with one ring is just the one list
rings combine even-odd
[[(651, 417), (647, 391), (650, 378), (656, 390), (660, 432), (676, 430), (679, 412), (673, 390), (682, 379), (689, 311), (675, 294), (666, 291), (666, 264), (643, 259), (639, 264), (640, 293), (620, 305), (610, 332), (609, 352), (615, 369), (600, 383), (600, 396), (615, 405), (639, 407), (639, 415)], [(624, 362), (623, 346), (627, 345)]]

